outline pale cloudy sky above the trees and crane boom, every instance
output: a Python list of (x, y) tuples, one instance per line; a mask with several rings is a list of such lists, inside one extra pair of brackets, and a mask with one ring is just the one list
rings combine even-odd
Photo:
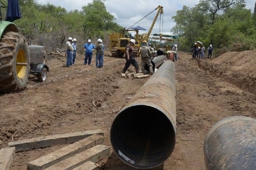
[[(55, 6), (61, 6), (62, 8), (67, 9), (67, 11), (77, 9), (82, 10), (82, 6), (86, 6), (87, 3), (91, 3), (93, 0), (37, 0), (38, 3), (46, 4), (47, 2)], [(73, 2), (73, 3), (72, 3)], [(199, 0), (136, 0), (136, 1), (123, 1), (123, 0), (106, 0), (107, 10), (113, 14), (116, 18), (116, 23), (125, 28), (129, 28), (131, 25), (136, 23), (146, 14), (154, 10), (158, 5), (163, 6), (163, 31), (162, 27), (160, 29), (160, 20), (159, 16), (157, 22), (154, 25), (153, 31), (151, 34), (159, 32), (164, 34), (171, 34), (170, 31), (175, 23), (172, 20), (172, 16), (176, 14), (177, 10), (182, 9), (184, 5), (189, 7), (194, 7), (195, 4), (198, 4)], [(245, 0), (246, 8), (253, 11), (255, 0)], [(143, 28), (149, 29), (157, 11), (154, 11), (152, 14), (148, 15), (144, 20), (135, 26), (141, 26)], [(161, 24), (162, 26), (162, 24)]]

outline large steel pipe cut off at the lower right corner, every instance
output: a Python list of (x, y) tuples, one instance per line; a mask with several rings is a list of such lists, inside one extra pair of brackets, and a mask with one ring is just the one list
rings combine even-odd
[(256, 170), (256, 119), (232, 116), (216, 123), (204, 140), (207, 170)]

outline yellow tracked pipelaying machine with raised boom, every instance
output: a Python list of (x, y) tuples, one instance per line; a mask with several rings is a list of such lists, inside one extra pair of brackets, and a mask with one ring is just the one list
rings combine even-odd
[[(131, 29), (135, 24), (139, 23), (141, 20), (143, 20), (145, 17), (147, 17), (149, 14), (151, 14), (152, 12), (154, 12), (157, 9), (158, 9), (157, 14), (154, 17), (153, 23), (151, 24), (151, 27), (149, 28), (147, 34), (139, 34), (139, 30)], [(135, 37), (134, 37), (136, 44), (133, 46), (133, 48), (134, 48), (134, 56), (137, 57), (141, 42), (143, 42), (144, 40), (148, 41), (149, 35), (151, 34), (151, 31), (154, 27), (154, 24), (157, 20), (158, 15), (163, 14), (163, 6), (158, 6), (153, 11), (151, 11), (149, 14), (147, 14), (145, 17), (143, 17), (142, 19), (137, 21), (130, 28), (128, 28), (128, 29), (124, 28), (122, 30), (122, 33), (112, 33), (109, 35), (109, 39), (110, 39), (109, 51), (111, 52), (112, 57), (122, 57), (125, 54), (125, 46), (131, 40), (131, 37), (128, 37), (126, 35), (126, 32), (128, 32), (128, 31), (136, 32)]]

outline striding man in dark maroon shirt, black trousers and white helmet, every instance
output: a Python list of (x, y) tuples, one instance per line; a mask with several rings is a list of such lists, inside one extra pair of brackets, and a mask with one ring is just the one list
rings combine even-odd
[(138, 62), (134, 58), (133, 49), (132, 46), (135, 45), (135, 40), (131, 39), (130, 43), (125, 46), (125, 67), (122, 70), (122, 73), (125, 73), (125, 71), (130, 67), (130, 65), (133, 65), (135, 67), (136, 73), (142, 73), (142, 71), (139, 70)]

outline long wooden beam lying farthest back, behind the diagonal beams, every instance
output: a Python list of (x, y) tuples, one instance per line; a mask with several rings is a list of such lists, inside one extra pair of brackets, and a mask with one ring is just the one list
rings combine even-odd
[(32, 139), (24, 139), (15, 142), (9, 142), (9, 147), (15, 147), (16, 152), (33, 150), (38, 148), (50, 147), (56, 144), (70, 144), (84, 139), (93, 134), (104, 135), (102, 130), (87, 130), (83, 132), (64, 133), (58, 135), (42, 136)]

